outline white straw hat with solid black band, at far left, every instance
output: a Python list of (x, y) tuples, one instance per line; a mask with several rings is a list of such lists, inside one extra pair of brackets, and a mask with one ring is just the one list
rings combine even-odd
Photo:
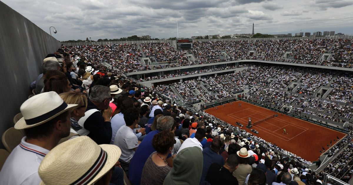
[(21, 105), (23, 117), (17, 121), (15, 129), (28, 129), (43, 124), (76, 106), (66, 104), (54, 91), (34, 95)]

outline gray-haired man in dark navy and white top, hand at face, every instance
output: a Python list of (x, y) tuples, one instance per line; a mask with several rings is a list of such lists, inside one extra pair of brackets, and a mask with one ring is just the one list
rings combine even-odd
[(90, 133), (88, 136), (97, 144), (109, 144), (112, 138), (112, 125), (110, 117), (112, 108), (109, 102), (110, 88), (96, 85), (90, 89), (85, 116), (80, 118), (78, 124)]

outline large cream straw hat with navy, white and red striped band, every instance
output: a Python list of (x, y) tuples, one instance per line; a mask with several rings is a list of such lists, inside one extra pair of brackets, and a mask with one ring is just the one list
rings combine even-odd
[(41, 184), (94, 184), (120, 155), (120, 148), (113, 144), (98, 145), (88, 136), (73, 138), (44, 157), (38, 169)]

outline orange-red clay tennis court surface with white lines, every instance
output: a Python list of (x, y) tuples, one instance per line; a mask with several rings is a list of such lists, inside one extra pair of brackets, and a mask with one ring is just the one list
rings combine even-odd
[[(239, 103), (241, 103), (240, 107)], [(330, 144), (330, 140), (332, 140), (332, 144), (335, 144), (334, 139), (336, 139), (336, 136), (339, 138), (345, 136), (342, 132), (287, 115), (281, 115), (281, 113), (244, 101), (234, 101), (233, 105), (226, 104), (225, 107), (220, 105), (217, 106), (217, 109), (210, 108), (205, 110), (205, 112), (237, 127), (239, 126), (235, 123), (240, 122), (244, 125), (242, 129), (247, 130), (247, 132), (261, 137), (268, 142), (275, 143), (280, 148), (311, 162), (318, 160), (322, 147), (325, 147), (326, 150), (328, 149), (327, 144)], [(275, 114), (278, 117), (253, 125), (251, 129), (259, 131), (259, 134), (255, 134), (246, 128), (249, 117), (251, 117), (252, 123), (254, 123)], [(283, 129), (286, 129), (288, 134), (282, 134)]]

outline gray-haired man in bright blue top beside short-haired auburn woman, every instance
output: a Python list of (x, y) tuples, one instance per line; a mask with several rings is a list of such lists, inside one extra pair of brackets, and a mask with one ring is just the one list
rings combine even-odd
[[(162, 116), (157, 119), (157, 129), (149, 132), (138, 146), (135, 154), (133, 155), (129, 166), (129, 177), (133, 185), (141, 183), (142, 169), (148, 157), (156, 150), (152, 146), (153, 137), (162, 131), (171, 130), (174, 124), (174, 118), (170, 116)], [(173, 167), (172, 155), (167, 156), (166, 161), (168, 166)]]

